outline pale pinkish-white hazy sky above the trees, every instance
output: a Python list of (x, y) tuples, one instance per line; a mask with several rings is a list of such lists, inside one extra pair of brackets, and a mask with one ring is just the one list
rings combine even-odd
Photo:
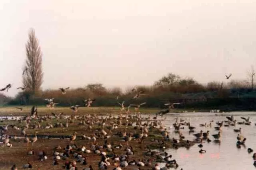
[(255, 0), (1, 0), (0, 86), (18, 93), (30, 28), (43, 89), (151, 85), (169, 72), (203, 84), (246, 79), (255, 9)]

